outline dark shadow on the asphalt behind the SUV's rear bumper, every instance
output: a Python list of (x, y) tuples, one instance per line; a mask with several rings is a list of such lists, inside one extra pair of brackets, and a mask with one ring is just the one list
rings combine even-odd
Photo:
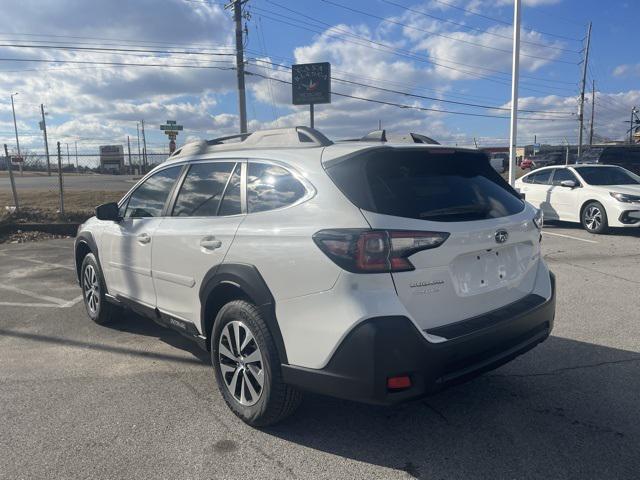
[(266, 432), (409, 478), (637, 478), (638, 398), (640, 353), (551, 337), (509, 365), (410, 404), (308, 395)]

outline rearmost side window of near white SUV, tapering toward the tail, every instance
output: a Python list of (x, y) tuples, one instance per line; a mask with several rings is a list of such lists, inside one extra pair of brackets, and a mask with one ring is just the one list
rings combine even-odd
[(249, 213), (291, 205), (305, 194), (304, 185), (284, 168), (266, 163), (249, 163), (247, 171)]

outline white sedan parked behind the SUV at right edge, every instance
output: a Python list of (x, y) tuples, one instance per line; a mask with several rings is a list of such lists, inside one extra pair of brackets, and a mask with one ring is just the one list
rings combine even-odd
[(516, 189), (545, 219), (579, 222), (591, 233), (640, 226), (640, 177), (619, 166), (540, 168), (516, 180)]

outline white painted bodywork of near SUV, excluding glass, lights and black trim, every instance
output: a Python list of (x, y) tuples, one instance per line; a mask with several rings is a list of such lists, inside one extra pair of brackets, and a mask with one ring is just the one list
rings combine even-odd
[[(530, 293), (551, 296), (533, 208), (526, 206), (511, 217), (457, 223), (363, 212), (329, 178), (321, 157), (337, 158), (368, 148), (379, 148), (379, 144), (179, 157), (162, 168), (215, 159), (282, 164), (308, 182), (311, 195), (288, 207), (252, 214), (136, 219), (130, 227), (123, 225), (127, 221), (92, 219), (82, 229), (96, 237), (110, 293), (192, 322), (200, 333), (204, 333), (199, 298), (204, 275), (222, 263), (255, 266), (275, 299), (289, 363), (311, 369), (323, 368), (342, 339), (371, 317), (405, 316), (423, 332), (489, 312)], [(533, 203), (528, 195), (527, 200)], [(432, 230), (451, 236), (440, 247), (410, 257), (414, 271), (354, 274), (338, 267), (314, 243), (314, 233), (331, 228)], [(498, 229), (509, 233), (503, 245), (495, 240)], [(137, 241), (142, 230), (152, 237), (148, 244)], [(221, 247), (203, 251), (199, 242), (205, 236), (215, 236)]]

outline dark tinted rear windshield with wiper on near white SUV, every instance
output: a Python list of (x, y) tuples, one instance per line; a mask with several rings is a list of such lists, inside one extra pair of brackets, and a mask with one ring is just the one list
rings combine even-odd
[(327, 167), (364, 210), (438, 222), (485, 220), (524, 209), (518, 193), (482, 153), (378, 149)]

